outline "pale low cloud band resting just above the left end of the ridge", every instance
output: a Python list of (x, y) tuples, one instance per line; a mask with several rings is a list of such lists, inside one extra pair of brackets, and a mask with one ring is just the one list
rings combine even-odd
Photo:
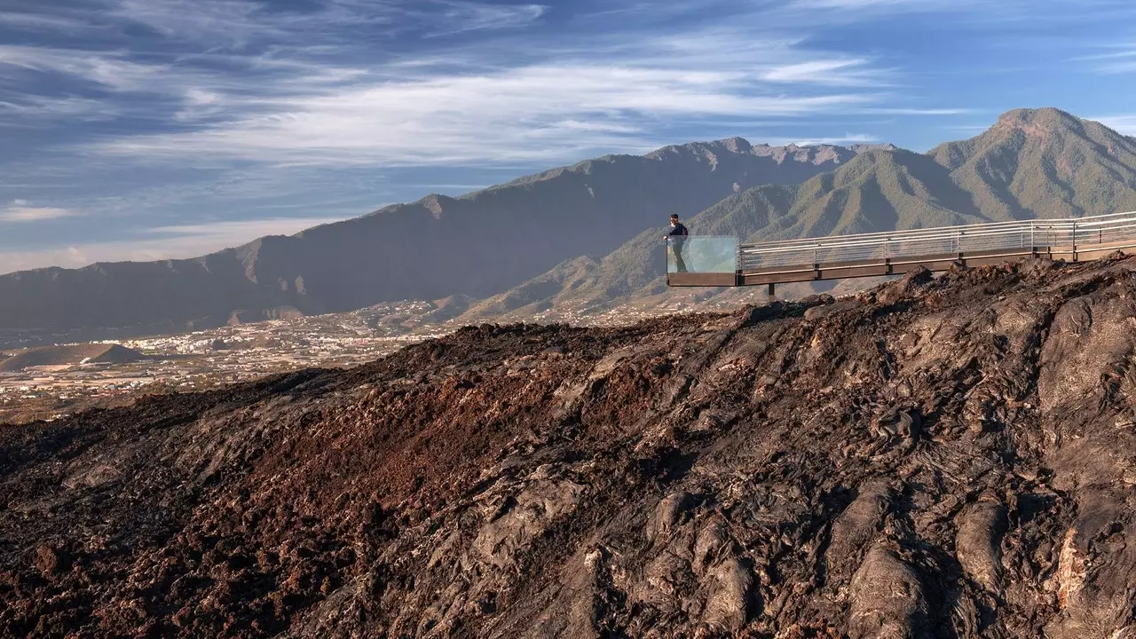
[(151, 262), (206, 255), (237, 247), (264, 235), (290, 235), (340, 218), (303, 217), (160, 226), (140, 238), (73, 243), (34, 251), (0, 250), (0, 273), (62, 266), (80, 268), (95, 262)]

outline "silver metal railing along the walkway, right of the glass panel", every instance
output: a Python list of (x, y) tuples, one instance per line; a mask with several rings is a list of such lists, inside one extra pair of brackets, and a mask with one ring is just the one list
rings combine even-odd
[(1094, 246), (1109, 244), (1136, 246), (1136, 213), (738, 244), (737, 268), (745, 272), (882, 259), (901, 262), (935, 255), (1002, 250), (1006, 255), (1020, 255), (1045, 252), (1058, 247), (1063, 250), (1071, 248), (1076, 254), (1078, 250), (1092, 250)]

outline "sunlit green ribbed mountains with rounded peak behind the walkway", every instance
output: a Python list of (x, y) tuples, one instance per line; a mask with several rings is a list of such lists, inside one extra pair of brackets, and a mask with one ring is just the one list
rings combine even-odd
[[(696, 234), (761, 241), (1120, 210), (1136, 210), (1136, 140), (1056, 109), (1019, 109), (977, 138), (927, 153), (871, 149), (800, 185), (747, 189), (687, 225)], [(474, 305), (456, 323), (752, 297), (745, 289), (668, 291), (658, 238), (644, 231), (607, 256), (567, 260)]]

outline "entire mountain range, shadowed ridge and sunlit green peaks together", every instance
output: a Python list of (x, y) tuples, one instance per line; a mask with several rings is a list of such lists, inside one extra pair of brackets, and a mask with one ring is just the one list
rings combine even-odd
[(926, 153), (891, 144), (769, 147), (733, 138), (607, 156), (460, 198), (428, 196), (194, 259), (0, 276), (0, 330), (170, 332), (399, 299), (456, 322), (594, 313), (667, 291), (666, 218), (742, 240), (1136, 209), (1136, 140), (1058, 109), (1019, 109)]

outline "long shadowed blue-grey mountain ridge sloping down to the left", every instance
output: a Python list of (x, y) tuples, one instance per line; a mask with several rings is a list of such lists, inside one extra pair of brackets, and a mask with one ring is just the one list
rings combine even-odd
[(2, 275), (0, 299), (11, 304), (0, 305), (0, 327), (174, 332), (408, 298), (485, 298), (563, 259), (609, 252), (671, 211), (685, 216), (752, 185), (800, 182), (857, 155), (828, 146), (778, 159), (774, 147), (754, 153), (729, 146), (584, 160), (197, 258)]

